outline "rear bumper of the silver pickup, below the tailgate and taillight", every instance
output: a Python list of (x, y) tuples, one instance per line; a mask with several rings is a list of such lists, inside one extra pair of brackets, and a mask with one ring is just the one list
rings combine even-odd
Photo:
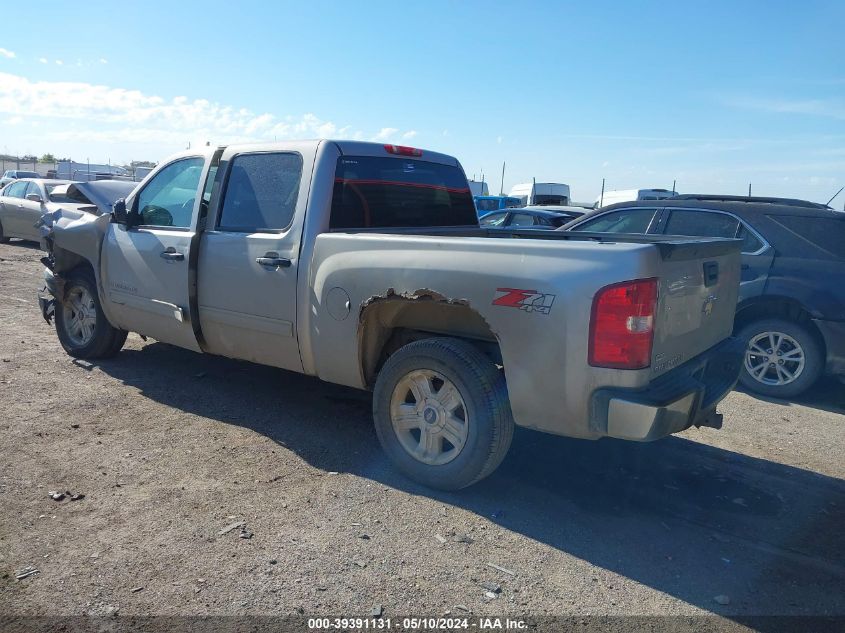
[(744, 346), (728, 338), (644, 389), (599, 389), (592, 424), (607, 437), (648, 442), (689, 427), (721, 428), (716, 405), (734, 388)]

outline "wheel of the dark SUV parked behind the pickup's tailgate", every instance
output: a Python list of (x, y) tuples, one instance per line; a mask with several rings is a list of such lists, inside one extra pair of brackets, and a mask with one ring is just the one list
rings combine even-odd
[(739, 381), (749, 391), (793, 398), (809, 389), (822, 373), (824, 355), (818, 340), (794, 321), (753, 321), (737, 336), (746, 342)]

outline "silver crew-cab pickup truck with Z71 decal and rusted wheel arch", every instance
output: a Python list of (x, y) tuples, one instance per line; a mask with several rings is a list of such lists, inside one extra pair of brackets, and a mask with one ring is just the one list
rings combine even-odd
[(460, 164), (435, 152), (208, 148), (111, 215), (44, 221), (42, 309), (68, 354), (138, 332), (371, 389), (387, 455), (432, 487), (490, 474), (514, 424), (718, 428), (739, 374), (738, 241), (483, 229)]

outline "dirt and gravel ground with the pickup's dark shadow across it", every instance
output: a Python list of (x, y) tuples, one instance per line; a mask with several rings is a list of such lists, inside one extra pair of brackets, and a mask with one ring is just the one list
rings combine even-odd
[(436, 493), (366, 393), (135, 335), (73, 361), (40, 256), (0, 245), (0, 613), (845, 614), (839, 383), (648, 445), (518, 432)]

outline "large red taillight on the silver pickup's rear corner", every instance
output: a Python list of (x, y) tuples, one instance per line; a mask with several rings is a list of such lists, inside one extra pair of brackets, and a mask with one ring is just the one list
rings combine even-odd
[(590, 365), (613, 369), (648, 367), (656, 309), (656, 279), (624, 281), (599, 290), (590, 317)]

